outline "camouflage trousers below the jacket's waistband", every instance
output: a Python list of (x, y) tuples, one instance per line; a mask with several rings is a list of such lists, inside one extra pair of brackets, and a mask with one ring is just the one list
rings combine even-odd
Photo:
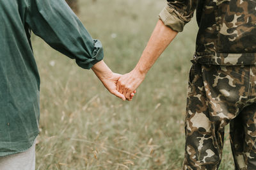
[(218, 169), (228, 123), (236, 169), (256, 169), (256, 66), (193, 64), (182, 169)]

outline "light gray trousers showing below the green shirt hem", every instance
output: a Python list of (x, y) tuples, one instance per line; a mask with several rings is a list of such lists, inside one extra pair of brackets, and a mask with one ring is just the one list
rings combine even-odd
[(35, 145), (22, 153), (0, 157), (1, 170), (35, 170)]

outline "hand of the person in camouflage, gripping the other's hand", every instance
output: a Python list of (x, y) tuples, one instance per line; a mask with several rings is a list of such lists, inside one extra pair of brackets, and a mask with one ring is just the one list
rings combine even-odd
[(141, 73), (138, 70), (132, 70), (125, 75), (122, 75), (116, 84), (117, 91), (131, 101), (136, 88), (140, 86), (141, 82), (145, 79), (145, 73)]

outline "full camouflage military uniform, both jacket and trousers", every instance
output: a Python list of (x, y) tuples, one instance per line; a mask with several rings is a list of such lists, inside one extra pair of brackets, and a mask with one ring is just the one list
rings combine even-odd
[(256, 169), (256, 1), (168, 0), (159, 14), (182, 31), (196, 9), (183, 169), (218, 169), (224, 128), (236, 169)]

